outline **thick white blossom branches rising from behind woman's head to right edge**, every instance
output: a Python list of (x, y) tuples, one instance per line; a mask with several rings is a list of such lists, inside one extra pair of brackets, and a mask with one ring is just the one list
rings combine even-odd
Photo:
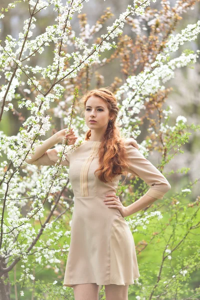
[[(129, 119), (132, 115), (145, 108), (144, 102), (148, 101), (149, 94), (155, 94), (157, 91), (164, 89), (162, 83), (174, 77), (174, 70), (196, 62), (199, 50), (196, 53), (191, 50), (183, 50), (179, 57), (169, 59), (168, 53), (176, 51), (178, 46), (185, 41), (195, 39), (197, 33), (200, 32), (200, 22), (194, 25), (187, 25), (181, 30), (181, 34), (171, 35), (171, 40), (166, 43), (164, 54), (158, 53), (155, 61), (150, 64), (149, 68), (145, 68), (138, 75), (129, 76), (126, 82), (122, 84), (116, 92), (117, 100), (121, 100), (122, 105), (117, 116), (117, 122), (122, 126), (123, 135), (129, 137)], [(185, 35), (184, 35), (185, 34)], [(174, 44), (176, 45), (174, 47)], [(165, 126), (163, 124), (163, 126)], [(137, 136), (138, 131), (131, 132), (131, 135)]]

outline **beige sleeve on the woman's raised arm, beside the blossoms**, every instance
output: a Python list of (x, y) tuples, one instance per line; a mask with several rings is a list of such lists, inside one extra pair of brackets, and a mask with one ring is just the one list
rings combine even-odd
[[(60, 157), (57, 156), (57, 153), (61, 151), (61, 146), (56, 146), (52, 149), (48, 149), (44, 152), (43, 155), (41, 155), (39, 158), (35, 159), (31, 162), (31, 164), (35, 164), (37, 166), (39, 165), (55, 165), (57, 162), (57, 159)], [(60, 164), (69, 166), (69, 156), (67, 154), (64, 154), (66, 159), (61, 160)]]

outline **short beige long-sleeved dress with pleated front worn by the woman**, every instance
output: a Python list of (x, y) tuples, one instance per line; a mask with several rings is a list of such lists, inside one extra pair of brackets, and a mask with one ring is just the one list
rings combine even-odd
[[(116, 193), (120, 175), (104, 183), (95, 177), (100, 141), (83, 141), (62, 164), (69, 166), (74, 193), (71, 240), (63, 285), (96, 283), (133, 284), (140, 276), (135, 244), (124, 217), (117, 208), (104, 204), (105, 194)], [(170, 184), (161, 172), (138, 150), (133, 138), (125, 140), (130, 161), (126, 171), (143, 179), (150, 188), (147, 195), (162, 199)], [(48, 149), (36, 165), (54, 165), (59, 146)]]

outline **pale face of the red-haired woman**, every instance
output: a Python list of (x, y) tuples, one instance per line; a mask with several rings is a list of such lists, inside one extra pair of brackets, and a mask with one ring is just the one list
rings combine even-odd
[[(110, 119), (106, 103), (97, 96), (90, 96), (85, 104), (85, 122), (89, 129), (106, 129)], [(90, 120), (96, 122), (90, 122)]]

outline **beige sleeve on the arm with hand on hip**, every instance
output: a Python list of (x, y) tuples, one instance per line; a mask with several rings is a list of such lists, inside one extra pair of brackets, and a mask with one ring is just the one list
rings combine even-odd
[(128, 155), (129, 166), (125, 171), (143, 179), (150, 188), (146, 194), (162, 199), (163, 195), (171, 188), (162, 173), (138, 150), (138, 145), (133, 138), (127, 138), (125, 147)]

